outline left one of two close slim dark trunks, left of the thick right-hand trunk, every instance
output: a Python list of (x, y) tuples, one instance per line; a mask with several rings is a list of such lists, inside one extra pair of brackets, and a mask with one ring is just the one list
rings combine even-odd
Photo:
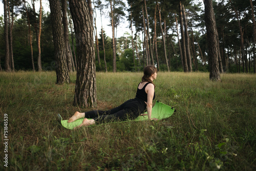
[(182, 4), (179, 3), (179, 13), (180, 13), (180, 33), (181, 33), (181, 48), (182, 48), (182, 57), (183, 57), (183, 67), (184, 72), (188, 72), (187, 66), (187, 55), (186, 55), (186, 45), (185, 45), (185, 34), (183, 30), (183, 15), (182, 15)]

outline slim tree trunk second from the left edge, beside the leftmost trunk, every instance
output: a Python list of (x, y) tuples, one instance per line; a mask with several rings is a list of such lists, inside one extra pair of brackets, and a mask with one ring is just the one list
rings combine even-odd
[[(11, 15), (10, 15), (11, 14)], [(9, 18), (9, 52), (10, 52), (10, 67), (14, 72), (14, 60), (13, 60), (13, 50), (12, 50), (12, 29), (13, 29), (13, 7), (10, 8), (8, 3), (8, 18)]]

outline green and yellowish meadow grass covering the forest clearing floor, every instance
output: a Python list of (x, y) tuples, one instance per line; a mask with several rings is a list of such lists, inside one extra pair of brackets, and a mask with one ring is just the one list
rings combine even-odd
[[(142, 73), (97, 73), (99, 110), (134, 98)], [(255, 170), (256, 76), (158, 73), (156, 99), (177, 112), (160, 121), (64, 129), (75, 73), (56, 85), (55, 72), (0, 72), (0, 114), (8, 114), (8, 167), (1, 170)], [(2, 160), (1, 160), (2, 161)]]

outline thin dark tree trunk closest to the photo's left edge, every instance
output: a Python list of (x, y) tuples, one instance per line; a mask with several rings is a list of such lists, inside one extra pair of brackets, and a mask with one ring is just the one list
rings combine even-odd
[(9, 38), (8, 38), (8, 8), (7, 0), (4, 0), (4, 22), (5, 22), (5, 70), (11, 71), (10, 68), (10, 52), (9, 52)]

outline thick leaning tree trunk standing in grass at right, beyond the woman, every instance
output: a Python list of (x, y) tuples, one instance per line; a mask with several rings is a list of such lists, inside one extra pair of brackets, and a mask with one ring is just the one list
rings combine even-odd
[(220, 81), (219, 61), (218, 61), (218, 42), (216, 35), (216, 22), (212, 0), (205, 0), (205, 26), (208, 43), (209, 71), (210, 80)]

